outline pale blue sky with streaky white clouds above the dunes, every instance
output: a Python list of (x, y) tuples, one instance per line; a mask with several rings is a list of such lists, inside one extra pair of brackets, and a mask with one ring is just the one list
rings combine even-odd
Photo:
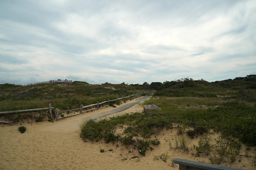
[(256, 0), (0, 0), (0, 84), (256, 74)]

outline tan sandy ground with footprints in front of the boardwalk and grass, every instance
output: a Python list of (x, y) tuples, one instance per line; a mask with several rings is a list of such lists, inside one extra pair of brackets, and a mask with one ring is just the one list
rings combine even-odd
[[(161, 144), (152, 146), (154, 150), (148, 150), (145, 157), (136, 149), (121, 144), (83, 142), (79, 137), (79, 124), (93, 114), (110, 109), (112, 107), (54, 122), (24, 123), (22, 126), (26, 126), (27, 131), (23, 134), (18, 131), (20, 124), (0, 124), (0, 170), (178, 170), (178, 165), (171, 164), (173, 158), (210, 163), (209, 156), (194, 156), (193, 144), (197, 144), (199, 138), (189, 139), (189, 152), (174, 148), (175, 130), (163, 130), (157, 136)], [(112, 116), (142, 111), (143, 106), (137, 104)], [(218, 134), (213, 137), (218, 137)], [(106, 152), (100, 152), (101, 149)], [(166, 162), (154, 160), (154, 156), (163, 153), (168, 153), (171, 159)], [(244, 155), (245, 146), (240, 150), (241, 161), (230, 163), (227, 160), (221, 165), (253, 170), (255, 151), (252, 150), (249, 157)]]

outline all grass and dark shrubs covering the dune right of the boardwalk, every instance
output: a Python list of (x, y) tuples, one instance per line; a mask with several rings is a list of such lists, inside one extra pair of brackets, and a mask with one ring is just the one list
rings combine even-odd
[[(220, 152), (220, 147), (225, 147), (223, 154), (233, 162), (238, 159), (240, 143), (248, 148), (256, 146), (255, 84), (255, 81), (241, 78), (212, 83), (189, 78), (153, 83), (148, 88), (158, 90), (143, 105), (155, 104), (161, 111), (126, 114), (101, 121), (90, 120), (81, 125), (81, 137), (85, 141), (103, 140), (132, 146), (145, 155), (153, 144), (159, 144), (157, 135), (164, 128), (175, 126), (180, 134), (191, 138), (213, 130), (220, 132), (221, 137), (216, 139), (215, 146), (209, 146), (209, 150)], [(118, 133), (120, 128), (123, 130)], [(195, 146), (198, 153), (202, 152), (202, 146), (208, 140), (206, 137), (204, 139), (199, 146)], [(177, 139), (178, 142), (184, 144), (183, 148), (187, 150), (184, 136)], [(218, 164), (220, 158), (212, 158), (212, 162)]]

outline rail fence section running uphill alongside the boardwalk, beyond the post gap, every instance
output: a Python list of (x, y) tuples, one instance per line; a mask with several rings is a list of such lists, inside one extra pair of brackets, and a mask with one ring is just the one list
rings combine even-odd
[[(95, 104), (90, 104), (90, 105), (87, 105), (87, 106), (83, 106), (83, 104), (81, 104), (80, 108), (74, 108), (74, 109), (70, 109), (70, 110), (58, 111), (58, 108), (56, 108), (55, 109), (55, 120), (58, 121), (59, 119), (63, 119), (65, 117), (75, 116), (75, 115), (79, 115), (79, 114), (89, 112), (89, 111), (92, 111), (92, 110), (98, 110), (98, 109), (101, 109), (101, 108), (105, 108), (105, 107), (109, 106), (110, 102), (115, 102), (115, 101), (121, 100), (121, 99), (124, 100), (125, 98), (134, 99), (135, 97), (139, 97), (139, 96), (141, 96), (142, 94), (145, 94), (145, 93), (146, 92), (138, 93), (138, 94), (135, 94), (135, 95), (129, 95), (129, 96), (126, 96), (126, 97), (120, 97), (120, 98), (116, 98), (116, 99), (112, 99), (112, 100), (108, 100), (108, 101), (104, 101), (104, 102), (97, 102)], [(106, 106), (100, 107), (100, 105), (105, 104), (105, 103), (108, 103), (108, 104)], [(94, 107), (94, 108), (91, 108), (91, 107)], [(91, 109), (83, 111), (83, 109), (85, 109), (85, 108), (91, 108)], [(80, 112), (72, 114), (72, 115), (67, 115), (65, 117), (59, 117), (59, 114), (61, 114), (61, 113), (76, 111), (76, 110), (80, 110)]]

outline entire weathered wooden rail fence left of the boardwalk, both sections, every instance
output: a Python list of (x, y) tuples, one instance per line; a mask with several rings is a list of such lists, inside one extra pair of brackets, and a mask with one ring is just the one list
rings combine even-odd
[[(64, 112), (80, 110), (79, 113), (68, 115), (66, 117), (75, 116), (75, 115), (79, 115), (79, 114), (82, 114), (82, 113), (85, 113), (85, 112), (89, 112), (89, 111), (92, 111), (92, 110), (96, 110), (96, 109), (100, 109), (100, 108), (105, 108), (105, 107), (109, 106), (110, 102), (114, 102), (114, 101), (117, 101), (117, 100), (120, 100), (120, 99), (124, 100), (125, 98), (134, 99), (135, 97), (139, 97), (139, 96), (141, 96), (142, 94), (145, 94), (145, 93), (146, 92), (138, 93), (138, 94), (135, 94), (135, 95), (129, 95), (127, 97), (120, 97), (120, 98), (117, 98), (117, 99), (108, 100), (108, 101), (104, 101), (104, 102), (97, 102), (96, 104), (90, 104), (88, 106), (83, 106), (83, 104), (81, 104), (80, 108), (74, 108), (74, 109), (70, 109), (70, 110), (61, 110), (61, 111), (59, 111), (58, 108), (56, 108), (55, 109), (55, 120), (58, 121), (59, 119), (64, 118), (64, 117), (58, 117), (59, 114), (64, 113)], [(108, 104), (106, 106), (100, 107), (100, 105), (105, 104), (107, 102), (108, 102)], [(52, 104), (49, 104), (49, 107), (47, 107), (47, 108), (32, 108), (32, 109), (27, 109), (27, 110), (4, 111), (4, 112), (0, 112), (0, 114), (31, 112), (31, 111), (48, 110), (49, 109), (49, 115), (50, 115), (50, 117), (52, 119), (52, 108), (54, 108), (54, 107), (52, 107)], [(90, 110), (86, 110), (86, 108), (91, 108), (91, 109)], [(7, 121), (0, 121), (0, 123), (9, 123), (9, 122), (7, 122)]]

